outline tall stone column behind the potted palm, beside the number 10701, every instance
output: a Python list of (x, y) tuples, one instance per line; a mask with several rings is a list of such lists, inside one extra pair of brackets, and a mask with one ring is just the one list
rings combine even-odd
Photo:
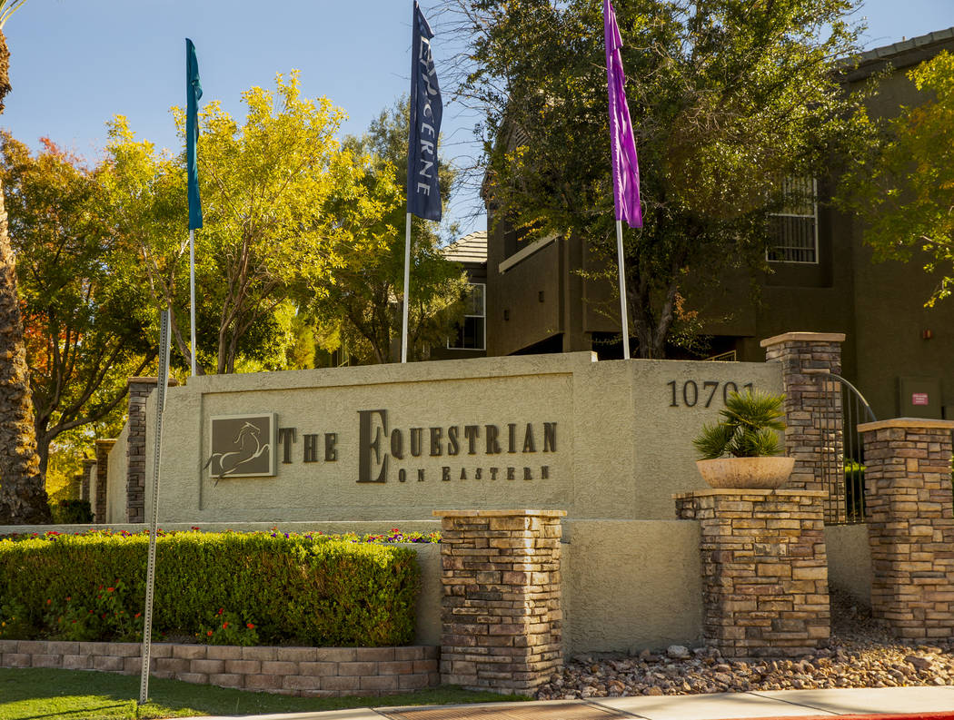
[(819, 375), (841, 373), (844, 333), (785, 333), (763, 339), (767, 362), (781, 362), (785, 454), (795, 458), (787, 487), (828, 491), (823, 459), (841, 447), (841, 394)]

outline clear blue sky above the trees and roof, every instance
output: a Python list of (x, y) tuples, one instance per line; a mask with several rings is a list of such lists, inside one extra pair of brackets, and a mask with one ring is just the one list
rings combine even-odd
[[(450, 49), (436, 5), (422, 0), (439, 33), (433, 51), (441, 76)], [(93, 158), (106, 120), (118, 113), (137, 136), (177, 149), (169, 108), (185, 103), (188, 36), (203, 100), (240, 113), (243, 90), (271, 87), (276, 72), (297, 68), (303, 93), (328, 96), (349, 115), (344, 132), (360, 134), (407, 92), (411, 7), (410, 0), (28, 0), (5, 28), (13, 92), (0, 125), (31, 145), (46, 135)], [(866, 0), (859, 14), (869, 25), (865, 47), (874, 48), (954, 26), (954, 1)], [(448, 105), (444, 154), (464, 161), (478, 153), (470, 131), (478, 120)], [(467, 191), (448, 215), (464, 232), (482, 229), (486, 220), (473, 216), (480, 206)]]

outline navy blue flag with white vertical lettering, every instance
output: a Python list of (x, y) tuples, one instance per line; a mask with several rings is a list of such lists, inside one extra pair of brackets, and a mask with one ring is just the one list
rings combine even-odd
[(414, 3), (414, 43), (411, 46), (411, 122), (407, 148), (407, 212), (428, 220), (441, 219), (441, 185), (437, 179), (437, 138), (444, 104), (437, 85), (427, 25)]

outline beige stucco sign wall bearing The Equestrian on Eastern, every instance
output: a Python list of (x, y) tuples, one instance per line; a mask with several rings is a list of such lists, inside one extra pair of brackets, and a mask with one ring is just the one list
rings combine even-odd
[[(192, 524), (425, 520), (434, 509), (540, 507), (565, 509), (570, 518), (669, 520), (673, 493), (703, 486), (691, 441), (703, 422), (716, 420), (726, 382), (739, 389), (748, 382), (773, 392), (781, 388), (775, 364), (595, 362), (590, 353), (193, 378), (169, 389), (159, 517)], [(683, 398), (687, 383), (690, 400), (692, 383), (697, 388), (694, 407)], [(154, 393), (148, 405), (147, 512), (155, 399)], [(385, 483), (358, 483), (359, 411), (378, 409), (387, 410), (388, 430), (403, 431), (405, 445), (411, 428), (423, 428), (425, 452), (403, 462), (389, 458)], [(297, 429), (293, 462), (279, 463), (276, 477), (217, 483), (202, 470), (211, 453), (210, 418), (262, 412), (275, 412), (280, 427)], [(543, 452), (545, 422), (556, 423), (553, 452)], [(508, 423), (516, 425), (514, 453), (507, 448)], [(533, 453), (521, 452), (527, 423)], [(474, 455), (463, 438), (471, 424), (481, 429)], [(487, 424), (500, 428), (504, 447), (498, 455), (486, 452)], [(459, 428), (462, 451), (448, 457), (450, 426)], [(427, 456), (431, 427), (442, 429), (441, 457)], [(304, 433), (321, 435), (321, 448), (323, 434), (335, 433), (338, 459), (303, 463)], [(386, 442), (382, 449), (386, 453)], [(448, 480), (442, 479), (444, 467)], [(506, 479), (508, 467), (513, 480)], [(400, 468), (407, 472), (404, 483)], [(498, 468), (495, 480), (491, 468)]]

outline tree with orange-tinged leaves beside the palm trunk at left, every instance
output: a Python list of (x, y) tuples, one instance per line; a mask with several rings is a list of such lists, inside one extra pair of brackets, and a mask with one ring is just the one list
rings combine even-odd
[(135, 248), (105, 232), (99, 173), (42, 138), (36, 156), (0, 134), (0, 170), (17, 254), (39, 471), (61, 433), (103, 420), (127, 378), (156, 359)]

